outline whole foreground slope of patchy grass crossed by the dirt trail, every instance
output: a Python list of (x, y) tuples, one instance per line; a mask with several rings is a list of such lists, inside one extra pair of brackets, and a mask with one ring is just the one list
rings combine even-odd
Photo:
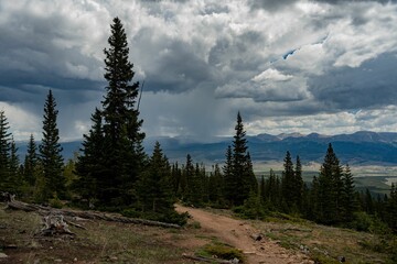
[[(184, 255), (214, 257), (242, 250), (245, 263), (395, 263), (393, 237), (356, 232), (287, 218), (236, 219), (227, 210), (192, 209), (184, 229), (75, 219), (75, 235), (41, 237), (36, 212), (0, 204), (0, 263), (197, 263)], [(216, 220), (216, 221), (215, 221)], [(218, 224), (214, 224), (215, 222)], [(251, 239), (260, 234), (261, 240)], [(386, 240), (385, 240), (386, 239)]]

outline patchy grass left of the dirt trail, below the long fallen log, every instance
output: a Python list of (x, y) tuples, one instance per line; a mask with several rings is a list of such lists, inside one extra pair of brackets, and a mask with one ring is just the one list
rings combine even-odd
[[(189, 263), (183, 232), (106, 221), (78, 222), (74, 237), (40, 237), (42, 220), (35, 212), (3, 210), (0, 204), (0, 252), (7, 263)], [(3, 263), (3, 262), (1, 262)]]

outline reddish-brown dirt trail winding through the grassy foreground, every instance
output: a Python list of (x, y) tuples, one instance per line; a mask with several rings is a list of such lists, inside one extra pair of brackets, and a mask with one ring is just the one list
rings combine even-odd
[(214, 235), (221, 241), (242, 250), (249, 264), (313, 263), (308, 256), (288, 251), (267, 238), (255, 241), (251, 235), (258, 232), (245, 221), (183, 206), (176, 206), (176, 210), (180, 212), (187, 211), (194, 221), (200, 222), (204, 233)]

